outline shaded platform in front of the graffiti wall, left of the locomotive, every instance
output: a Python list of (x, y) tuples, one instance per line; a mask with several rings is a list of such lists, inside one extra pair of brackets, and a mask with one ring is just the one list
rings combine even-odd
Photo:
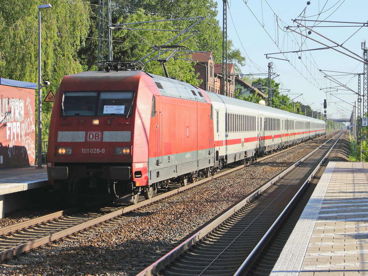
[(35, 166), (0, 170), (0, 218), (17, 208), (14, 193), (35, 188), (46, 187), (46, 166), (36, 169)]

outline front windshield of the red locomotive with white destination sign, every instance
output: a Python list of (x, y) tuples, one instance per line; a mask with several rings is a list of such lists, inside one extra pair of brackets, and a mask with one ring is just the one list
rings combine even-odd
[(132, 91), (65, 91), (61, 116), (128, 116)]

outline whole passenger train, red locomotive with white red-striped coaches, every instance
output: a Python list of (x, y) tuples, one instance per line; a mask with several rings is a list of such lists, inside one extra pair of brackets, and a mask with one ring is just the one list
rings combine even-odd
[(47, 149), (52, 192), (137, 203), (224, 165), (325, 134), (315, 118), (204, 91), (134, 62), (67, 75), (55, 94)]

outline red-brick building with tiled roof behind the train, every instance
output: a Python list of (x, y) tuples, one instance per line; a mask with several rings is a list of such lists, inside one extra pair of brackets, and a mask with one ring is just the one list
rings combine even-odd
[[(222, 89), (222, 64), (215, 64), (213, 61), (212, 51), (208, 52), (194, 52), (188, 54), (187, 57), (192, 57), (192, 60), (197, 61), (193, 66), (195, 73), (199, 73), (198, 79), (202, 79), (199, 88), (209, 90), (217, 94), (221, 94)], [(232, 63), (228, 64), (229, 72), (229, 95), (234, 97), (235, 94), (235, 71)]]

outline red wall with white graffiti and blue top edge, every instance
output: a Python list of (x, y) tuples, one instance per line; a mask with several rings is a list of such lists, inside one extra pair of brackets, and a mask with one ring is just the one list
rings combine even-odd
[(0, 169), (35, 164), (35, 89), (0, 78)]

